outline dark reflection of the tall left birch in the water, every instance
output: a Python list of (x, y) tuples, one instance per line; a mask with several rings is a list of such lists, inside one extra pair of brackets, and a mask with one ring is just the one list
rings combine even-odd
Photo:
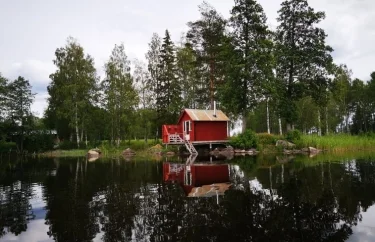
[(92, 187), (86, 181), (85, 161), (59, 164), (55, 176), (44, 183), (46, 224), (49, 236), (57, 241), (91, 241), (99, 232), (90, 208)]

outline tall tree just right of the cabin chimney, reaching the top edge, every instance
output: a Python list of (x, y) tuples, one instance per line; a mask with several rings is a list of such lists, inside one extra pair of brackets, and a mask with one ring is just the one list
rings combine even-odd
[(254, 0), (235, 0), (231, 11), (230, 25), (233, 29), (232, 47), (226, 54), (231, 55), (228, 65), (224, 99), (230, 100), (232, 113), (243, 117), (243, 131), (246, 129), (247, 114), (254, 109), (266, 84), (272, 78), (272, 42), (266, 25), (263, 8)]

